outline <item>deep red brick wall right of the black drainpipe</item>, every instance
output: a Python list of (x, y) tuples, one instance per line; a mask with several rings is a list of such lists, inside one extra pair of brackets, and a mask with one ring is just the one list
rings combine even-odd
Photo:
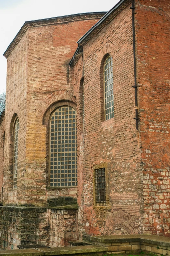
[(170, 235), (170, 3), (136, 0), (145, 233)]

